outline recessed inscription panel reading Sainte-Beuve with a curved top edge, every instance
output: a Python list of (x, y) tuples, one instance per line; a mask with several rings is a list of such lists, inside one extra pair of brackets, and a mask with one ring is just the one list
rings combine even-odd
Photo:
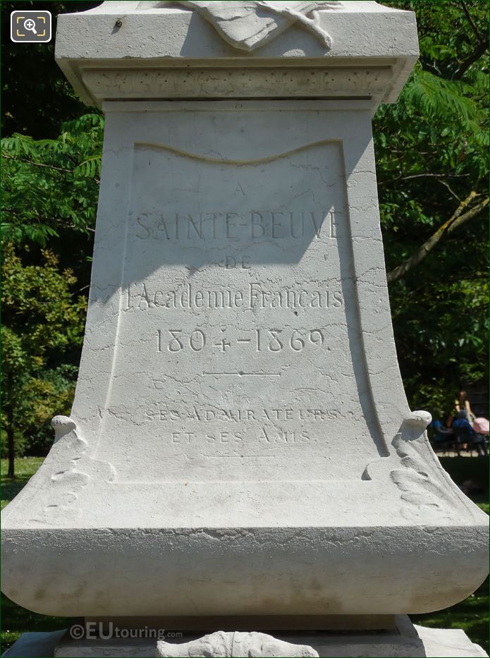
[(381, 452), (341, 143), (275, 150), (135, 144), (98, 450), (118, 480), (360, 479)]

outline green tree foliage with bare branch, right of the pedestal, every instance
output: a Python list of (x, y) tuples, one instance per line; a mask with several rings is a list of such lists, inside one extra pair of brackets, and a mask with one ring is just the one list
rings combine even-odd
[(393, 327), (409, 401), (450, 411), (487, 376), (488, 5), (417, 13), (420, 59), (374, 121)]

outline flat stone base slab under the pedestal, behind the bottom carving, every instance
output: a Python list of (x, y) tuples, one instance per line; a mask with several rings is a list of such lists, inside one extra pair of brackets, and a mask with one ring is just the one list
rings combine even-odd
[[(188, 642), (202, 634), (183, 634), (166, 642)], [(397, 617), (397, 628), (383, 631), (335, 633), (332, 631), (279, 632), (274, 636), (298, 645), (310, 645), (320, 657), (427, 657), (459, 658), (487, 657), (482, 647), (475, 645), (463, 630), (414, 626), (408, 616)], [(114, 657), (142, 658), (157, 655), (157, 639), (128, 638), (112, 640), (73, 640), (68, 631), (54, 633), (24, 633), (4, 654), (8, 658)]]

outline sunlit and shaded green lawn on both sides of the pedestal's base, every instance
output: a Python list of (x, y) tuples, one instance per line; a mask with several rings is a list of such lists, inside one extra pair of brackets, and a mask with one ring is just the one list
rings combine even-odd
[[(441, 458), (444, 468), (450, 473), (456, 484), (460, 485), (472, 480), (480, 489), (474, 500), (486, 513), (489, 513), (488, 502), (488, 463), (486, 459), (477, 457), (445, 457)], [(16, 480), (4, 476), (7, 472), (5, 459), (1, 460), (1, 506), (4, 506), (16, 496), (27, 480), (34, 475), (42, 463), (40, 457), (19, 458), (16, 460)], [(58, 630), (66, 628), (70, 619), (49, 617), (35, 614), (19, 607), (2, 595), (2, 630), (1, 650), (5, 651), (21, 633), (25, 631)], [(451, 608), (412, 616), (412, 621), (421, 626), (432, 628), (463, 628), (473, 642), (481, 645), (486, 652), (489, 650), (489, 580), (481, 585), (474, 594)]]

